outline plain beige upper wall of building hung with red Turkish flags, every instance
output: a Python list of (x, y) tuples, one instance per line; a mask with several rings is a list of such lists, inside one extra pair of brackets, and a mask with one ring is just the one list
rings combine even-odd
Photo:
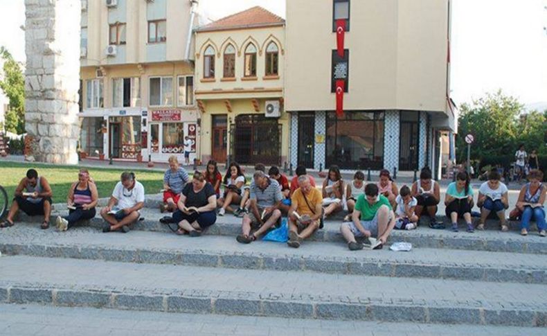
[[(448, 24), (448, 0), (351, 1), (344, 109), (445, 112)], [(335, 109), (332, 1), (287, 1), (286, 36), (286, 109)]]

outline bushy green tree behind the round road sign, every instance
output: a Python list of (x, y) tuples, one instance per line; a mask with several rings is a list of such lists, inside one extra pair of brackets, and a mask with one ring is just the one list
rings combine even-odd
[(465, 135), (473, 134), (472, 159), (514, 152), (518, 135), (517, 116), (523, 105), (512, 96), (505, 96), (501, 90), (488, 93), (483, 98), (463, 103), (458, 118), (458, 139), (456, 154), (458, 161), (467, 159)]

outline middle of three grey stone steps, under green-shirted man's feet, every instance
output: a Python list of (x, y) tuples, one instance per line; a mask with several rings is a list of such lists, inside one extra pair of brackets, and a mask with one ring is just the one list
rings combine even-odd
[(343, 242), (305, 242), (300, 249), (284, 243), (242, 245), (230, 236), (190, 238), (163, 232), (101, 233), (92, 228), (66, 232), (19, 225), (0, 234), (6, 255), (312, 271), (467, 281), (547, 283), (540, 254), (415, 248), (411, 252), (349, 251)]

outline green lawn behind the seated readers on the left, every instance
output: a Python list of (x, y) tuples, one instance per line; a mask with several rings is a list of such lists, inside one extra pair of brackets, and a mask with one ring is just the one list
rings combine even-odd
[[(73, 182), (78, 181), (78, 170), (83, 166), (52, 166), (42, 163), (15, 163), (0, 161), (0, 185), (6, 189), (8, 198), (11, 199), (19, 181), (25, 176), (26, 171), (35, 168), (39, 176), (48, 179), (53, 190), (53, 202), (66, 201), (69, 188)], [(99, 197), (109, 197), (112, 189), (120, 180), (123, 170), (108, 168), (91, 168), (89, 174), (95, 180), (99, 191)], [(131, 170), (135, 173), (138, 182), (145, 188), (145, 193), (159, 193), (163, 188), (163, 173), (150, 170)]]

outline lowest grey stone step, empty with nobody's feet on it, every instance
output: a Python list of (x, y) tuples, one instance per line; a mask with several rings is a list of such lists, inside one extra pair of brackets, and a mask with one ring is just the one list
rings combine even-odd
[(0, 301), (123, 310), (547, 326), (547, 285), (4, 256)]

